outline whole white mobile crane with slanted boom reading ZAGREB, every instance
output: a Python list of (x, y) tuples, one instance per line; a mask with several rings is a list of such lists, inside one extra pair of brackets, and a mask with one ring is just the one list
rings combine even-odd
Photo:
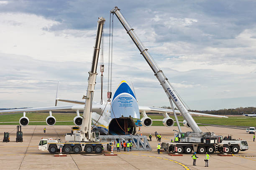
[(225, 151), (226, 153), (238, 153), (240, 150), (248, 150), (248, 144), (246, 140), (232, 140), (231, 136), (225, 137), (223, 139), (222, 136), (216, 136), (214, 133), (203, 133), (202, 130), (197, 125), (197, 123), (195, 122), (195, 120), (189, 114), (189, 111), (180, 100), (177, 92), (174, 90), (174, 88), (172, 87), (172, 85), (162, 72), (162, 70), (159, 68), (159, 66), (156, 64), (154, 59), (149, 54), (148, 49), (146, 49), (146, 47), (143, 45), (143, 43), (138, 38), (136, 33), (133, 31), (134, 29), (131, 28), (127, 20), (123, 17), (122, 13), (120, 12), (120, 9), (118, 7), (114, 7), (112, 10), (110, 10), (110, 13), (116, 15), (120, 23), (127, 31), (128, 35), (131, 37), (135, 45), (138, 47), (138, 50), (141, 52), (141, 55), (143, 55), (148, 65), (153, 70), (154, 75), (159, 80), (160, 85), (163, 87), (164, 92), (169, 98), (169, 101), (172, 105), (172, 109), (174, 110), (172, 104), (172, 102), (174, 102), (174, 104), (177, 106), (180, 113), (184, 117), (185, 124), (187, 124), (193, 131), (182, 133), (181, 129), (178, 126), (179, 133), (177, 134), (177, 136), (179, 136), (179, 143), (162, 143), (161, 147), (164, 150), (169, 152), (177, 151), (178, 153), (185, 152), (187, 154), (192, 153), (192, 151), (203, 154), (206, 151), (208, 153), (214, 153), (215, 151)]

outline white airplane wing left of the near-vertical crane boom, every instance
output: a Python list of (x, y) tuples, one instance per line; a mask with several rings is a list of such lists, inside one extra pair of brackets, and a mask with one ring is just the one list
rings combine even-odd
[(26, 109), (10, 109), (10, 110), (0, 110), (0, 113), (4, 112), (38, 112), (38, 111), (71, 111), (71, 110), (83, 110), (83, 106), (79, 105), (69, 105), (69, 106), (51, 106), (51, 107), (34, 107)]

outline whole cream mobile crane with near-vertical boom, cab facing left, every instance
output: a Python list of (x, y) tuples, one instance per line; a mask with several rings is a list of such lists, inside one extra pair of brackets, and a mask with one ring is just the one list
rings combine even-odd
[(63, 150), (66, 154), (69, 154), (72, 151), (76, 154), (79, 154), (81, 151), (85, 151), (88, 154), (92, 153), (93, 151), (95, 151), (95, 153), (102, 153), (102, 148), (103, 150), (110, 150), (111, 143), (100, 142), (100, 133), (91, 130), (92, 98), (96, 84), (97, 64), (104, 24), (105, 18), (99, 18), (94, 52), (92, 56), (92, 66), (88, 78), (87, 94), (83, 96), (83, 99), (86, 99), (86, 102), (84, 105), (81, 130), (73, 133), (66, 133), (65, 142), (61, 142), (60, 139), (53, 140), (52, 138), (42, 138), (38, 145), (38, 150), (49, 150), (49, 153), (56, 153), (58, 151), (61, 152)]

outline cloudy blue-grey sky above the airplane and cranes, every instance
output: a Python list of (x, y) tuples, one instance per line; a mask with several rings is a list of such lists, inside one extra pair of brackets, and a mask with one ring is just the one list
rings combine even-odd
[[(58, 80), (59, 98), (82, 100), (98, 17), (106, 18), (106, 101), (115, 6), (189, 109), (256, 107), (256, 1), (0, 0), (0, 108), (53, 106)], [(125, 80), (133, 82), (139, 105), (170, 106), (115, 16), (113, 22), (112, 92)], [(100, 74), (94, 101), (100, 101)]]

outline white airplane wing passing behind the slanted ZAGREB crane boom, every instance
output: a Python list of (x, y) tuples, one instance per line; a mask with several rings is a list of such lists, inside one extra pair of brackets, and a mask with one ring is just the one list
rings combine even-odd
[[(148, 106), (139, 106), (140, 112), (145, 111), (148, 112), (155, 112), (155, 113), (173, 113), (172, 109), (165, 109), (165, 108), (159, 108), (159, 107), (148, 107)], [(180, 114), (179, 110), (175, 110), (176, 113)], [(202, 115), (202, 116), (209, 116), (209, 117), (227, 117), (227, 116), (221, 116), (221, 115), (211, 115), (206, 113), (198, 113), (198, 112), (189, 112), (190, 115)]]

